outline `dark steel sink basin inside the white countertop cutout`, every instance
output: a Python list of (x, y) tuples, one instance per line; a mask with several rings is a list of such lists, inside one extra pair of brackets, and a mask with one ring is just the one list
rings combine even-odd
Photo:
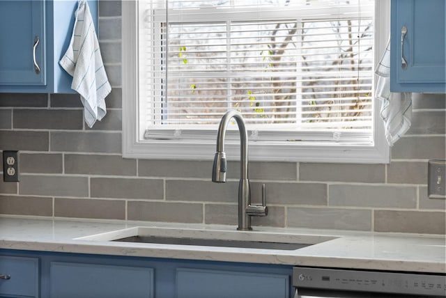
[(159, 237), (159, 236), (131, 236), (112, 240), (115, 242), (141, 242), (156, 244), (179, 244), (194, 246), (219, 246), (219, 247), (238, 247), (242, 249), (279, 249), (285, 251), (294, 251), (312, 244), (302, 243), (282, 243), (282, 242), (261, 242), (261, 241), (243, 241), (243, 240), (215, 240), (215, 239), (197, 239), (182, 237)]

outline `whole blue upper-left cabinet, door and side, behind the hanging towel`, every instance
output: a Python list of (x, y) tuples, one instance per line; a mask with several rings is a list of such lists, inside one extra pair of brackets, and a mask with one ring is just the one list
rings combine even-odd
[[(98, 28), (98, 1), (89, 1)], [(70, 44), (77, 1), (0, 1), (0, 92), (74, 93), (59, 65)]]

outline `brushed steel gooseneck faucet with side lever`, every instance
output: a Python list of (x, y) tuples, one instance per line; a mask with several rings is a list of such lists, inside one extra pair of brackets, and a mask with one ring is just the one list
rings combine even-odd
[(226, 153), (224, 153), (224, 136), (229, 120), (234, 118), (240, 132), (240, 182), (238, 184), (238, 228), (237, 230), (252, 230), (251, 217), (268, 215), (266, 207), (265, 185), (262, 185), (262, 205), (251, 205), (251, 189), (248, 179), (248, 136), (242, 114), (238, 111), (227, 111), (217, 132), (217, 152), (215, 152), (212, 181), (226, 182)]

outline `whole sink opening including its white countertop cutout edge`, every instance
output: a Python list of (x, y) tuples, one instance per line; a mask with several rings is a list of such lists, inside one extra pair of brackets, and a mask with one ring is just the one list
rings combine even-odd
[(240, 249), (275, 249), (294, 251), (336, 237), (326, 235), (289, 235), (273, 232), (238, 230), (202, 230), (134, 227), (76, 238), (76, 240), (133, 242), (187, 246), (215, 246)]

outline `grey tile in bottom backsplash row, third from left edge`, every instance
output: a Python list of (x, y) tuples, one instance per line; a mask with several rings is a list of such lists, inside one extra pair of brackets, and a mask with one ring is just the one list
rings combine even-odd
[(203, 205), (198, 203), (129, 201), (128, 220), (202, 223)]

